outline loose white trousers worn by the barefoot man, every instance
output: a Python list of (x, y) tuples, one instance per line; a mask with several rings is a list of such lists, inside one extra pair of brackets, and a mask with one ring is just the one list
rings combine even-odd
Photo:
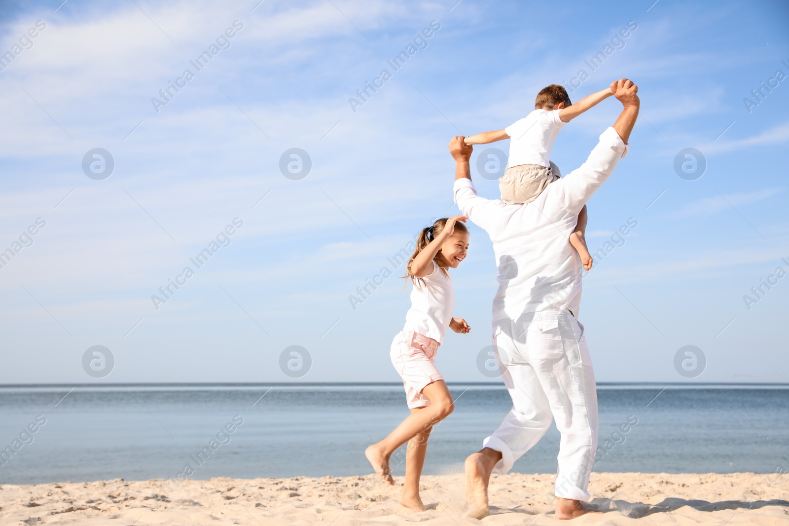
[(597, 447), (597, 393), (583, 325), (566, 309), (524, 313), (493, 323), (493, 346), (513, 408), (484, 446), (502, 453), (506, 473), (543, 437), (561, 434), (555, 495), (589, 501)]

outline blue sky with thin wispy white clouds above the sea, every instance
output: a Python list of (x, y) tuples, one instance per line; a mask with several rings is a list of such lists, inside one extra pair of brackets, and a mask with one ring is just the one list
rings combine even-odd
[[(300, 381), (398, 381), (388, 349), (408, 308), (402, 267), (355, 310), (349, 296), (391, 269), (387, 258), (431, 218), (456, 211), (450, 137), (509, 125), (540, 88), (581, 69), (589, 77), (573, 100), (630, 77), (642, 101), (630, 154), (589, 201), (593, 251), (638, 223), (585, 277), (580, 319), (598, 381), (787, 379), (789, 277), (776, 276), (789, 272), (789, 80), (776, 77), (789, 74), (785, 2), (58, 0), (2, 10), (2, 53), (36, 21), (45, 27), (0, 72), (0, 249), (46, 222), (0, 269), (2, 383), (290, 381), (279, 359), (291, 345), (312, 359)], [(589, 71), (585, 61), (629, 22), (638, 28)], [(387, 65), (431, 23), (439, 29), (405, 66)], [(218, 39), (207, 65), (190, 64)], [(178, 81), (187, 69), (193, 78)], [(391, 78), (352, 108), (383, 69)], [(168, 82), (182, 87), (157, 112), (151, 99)], [(565, 126), (552, 160), (564, 173), (578, 167), (616, 115), (606, 100)], [(109, 178), (84, 174), (92, 148), (113, 157)], [(290, 148), (308, 152), (305, 178), (280, 171)], [(675, 172), (685, 148), (705, 157), (701, 178)], [(497, 196), (476, 168), (473, 178)], [(156, 310), (151, 295), (234, 218), (243, 225), (229, 245)], [(743, 296), (768, 276), (778, 283), (749, 310)], [(485, 381), (476, 364), (491, 344), (495, 266), (477, 227), (453, 279), (455, 315), (472, 333), (447, 338), (439, 370)], [(93, 345), (114, 356), (104, 378), (81, 365)], [(686, 345), (705, 355), (695, 378), (675, 370)]]

